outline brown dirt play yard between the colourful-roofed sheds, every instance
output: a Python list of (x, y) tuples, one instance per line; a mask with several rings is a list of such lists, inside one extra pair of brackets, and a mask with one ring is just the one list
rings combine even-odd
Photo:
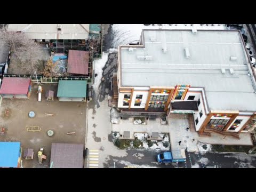
[[(85, 102), (59, 102), (56, 98), (57, 85), (43, 84), (42, 101), (37, 101), (37, 84), (34, 84), (29, 99), (3, 99), (0, 107), (0, 126), (7, 127), (5, 135), (0, 135), (0, 141), (20, 141), (22, 151), (26, 148), (34, 149), (34, 159), (26, 160), (22, 153), (22, 166), (50, 167), (51, 143), (85, 143), (86, 103)], [(54, 91), (54, 101), (46, 101), (44, 95), (47, 90)], [(5, 116), (8, 107), (9, 116)], [(36, 116), (30, 118), (29, 111), (35, 111)], [(55, 116), (46, 116), (45, 113)], [(27, 132), (26, 126), (41, 127), (40, 132)], [(48, 130), (54, 135), (49, 137)], [(75, 134), (67, 134), (75, 132)], [(43, 154), (47, 160), (38, 163), (37, 152), (44, 148)]]

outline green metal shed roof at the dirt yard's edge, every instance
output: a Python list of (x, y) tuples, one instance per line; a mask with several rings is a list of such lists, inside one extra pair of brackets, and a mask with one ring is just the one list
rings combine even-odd
[(86, 97), (87, 81), (60, 80), (57, 97)]

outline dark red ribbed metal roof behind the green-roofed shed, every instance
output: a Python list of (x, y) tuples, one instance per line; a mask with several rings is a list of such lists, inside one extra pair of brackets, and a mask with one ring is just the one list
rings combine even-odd
[(88, 75), (89, 52), (88, 51), (68, 51), (68, 73)]

